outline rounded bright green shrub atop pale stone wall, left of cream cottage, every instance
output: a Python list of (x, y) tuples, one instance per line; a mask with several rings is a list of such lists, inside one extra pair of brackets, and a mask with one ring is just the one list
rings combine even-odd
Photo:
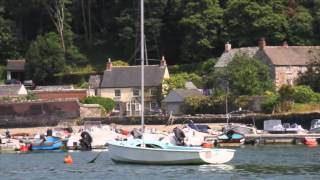
[(100, 96), (89, 96), (85, 98), (82, 103), (84, 104), (99, 104), (101, 105), (105, 111), (111, 112), (115, 107), (115, 102), (111, 98), (105, 98)]

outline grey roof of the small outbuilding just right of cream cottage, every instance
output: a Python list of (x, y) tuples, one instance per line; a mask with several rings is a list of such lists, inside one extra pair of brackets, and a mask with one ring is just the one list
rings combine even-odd
[(183, 102), (186, 97), (202, 95), (203, 94), (198, 89), (175, 89), (170, 91), (162, 102)]

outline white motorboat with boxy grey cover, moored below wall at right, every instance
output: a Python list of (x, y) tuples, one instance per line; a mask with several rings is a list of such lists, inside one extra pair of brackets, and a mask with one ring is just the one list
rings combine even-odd
[(265, 120), (263, 130), (268, 133), (305, 133), (306, 130), (296, 123), (281, 123), (279, 119)]

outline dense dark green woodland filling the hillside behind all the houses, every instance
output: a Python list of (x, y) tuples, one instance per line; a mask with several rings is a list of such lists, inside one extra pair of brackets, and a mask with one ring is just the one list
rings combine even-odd
[[(148, 57), (198, 63), (219, 56), (226, 41), (255, 46), (261, 36), (272, 45), (316, 45), (319, 7), (319, 0), (145, 0)], [(25, 57), (49, 32), (68, 65), (86, 57), (100, 70), (107, 57), (139, 64), (138, 8), (138, 0), (0, 0), (0, 64)]]

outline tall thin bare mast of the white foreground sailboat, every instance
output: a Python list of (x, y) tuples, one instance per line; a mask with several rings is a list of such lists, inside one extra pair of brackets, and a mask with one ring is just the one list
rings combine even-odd
[(144, 2), (140, 0), (141, 129), (144, 132)]

